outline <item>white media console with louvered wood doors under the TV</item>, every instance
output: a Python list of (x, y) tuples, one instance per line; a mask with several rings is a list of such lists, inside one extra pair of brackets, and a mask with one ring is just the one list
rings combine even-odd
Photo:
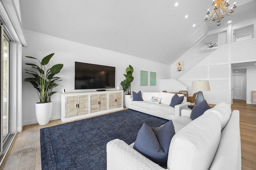
[(61, 93), (62, 122), (122, 109), (123, 90)]

